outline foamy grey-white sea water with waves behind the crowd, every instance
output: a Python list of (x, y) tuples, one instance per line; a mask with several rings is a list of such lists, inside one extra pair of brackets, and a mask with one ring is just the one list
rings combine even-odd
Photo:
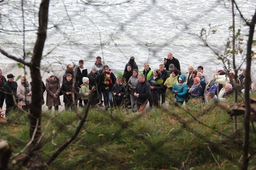
[[(0, 4), (0, 48), (18, 58), (33, 52), (41, 1), (23, 2), (23, 13), (20, 0)], [(243, 17), (251, 19), (256, 0), (236, 2)], [(235, 23), (237, 29), (242, 30), (246, 44), (248, 27), (244, 26), (237, 10)], [(183, 74), (188, 65), (195, 69), (201, 65), (208, 77), (212, 77), (224, 67), (198, 36), (202, 28), (209, 29), (209, 24), (217, 32), (207, 37), (207, 43), (222, 54), (232, 25), (228, 0), (52, 0), (41, 61), (42, 77), (45, 80), (49, 76), (45, 71), (51, 71), (62, 79), (66, 65), (78, 65), (79, 59), (84, 59), (89, 72), (96, 56), (101, 56), (114, 74), (123, 71), (130, 56), (135, 57), (139, 70), (143, 70), (145, 62), (150, 63), (151, 69), (157, 69), (168, 52), (180, 61)], [(243, 63), (244, 58), (237, 55), (236, 64)], [(30, 56), (24, 59), (29, 61)], [(245, 63), (241, 70), (244, 67)], [(254, 69), (255, 63), (252, 67)], [(0, 68), (3, 75), (24, 72), (15, 61), (2, 54)], [(29, 69), (26, 71), (29, 73)], [(253, 72), (253, 80), (254, 77)]]

